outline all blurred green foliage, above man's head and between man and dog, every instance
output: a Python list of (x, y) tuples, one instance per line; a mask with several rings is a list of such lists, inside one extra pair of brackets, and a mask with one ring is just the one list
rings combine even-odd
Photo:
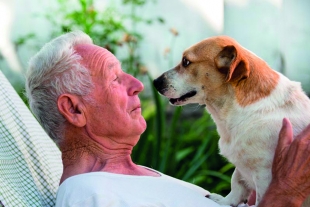
[[(139, 78), (148, 89), (140, 95), (148, 127), (134, 148), (134, 162), (226, 195), (234, 166), (218, 153), (219, 137), (210, 115), (200, 110), (194, 117), (182, 113), (182, 107), (169, 107), (167, 100), (154, 89), (153, 78), (141, 62), (138, 49), (144, 34), (137, 27), (165, 22), (161, 17), (138, 15), (137, 9), (150, 1), (119, 0), (122, 12), (113, 5), (99, 11), (93, 0), (57, 1), (58, 8), (46, 15), (53, 28), (51, 38), (79, 29), (89, 34), (95, 44), (109, 49), (117, 57), (119, 51), (124, 54), (125, 50), (126, 55), (120, 58), (122, 68)], [(173, 50), (179, 35), (175, 29), (170, 32), (173, 38), (168, 53)], [(25, 39), (21, 38), (20, 44), (24, 42)]]

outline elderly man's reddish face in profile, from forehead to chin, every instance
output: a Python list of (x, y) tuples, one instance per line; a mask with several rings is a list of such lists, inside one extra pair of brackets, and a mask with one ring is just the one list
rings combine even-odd
[(91, 71), (95, 86), (89, 94), (92, 103), (85, 103), (87, 132), (94, 138), (132, 144), (130, 137), (136, 140), (146, 128), (138, 97), (143, 84), (123, 72), (120, 62), (106, 49), (85, 44), (76, 50)]

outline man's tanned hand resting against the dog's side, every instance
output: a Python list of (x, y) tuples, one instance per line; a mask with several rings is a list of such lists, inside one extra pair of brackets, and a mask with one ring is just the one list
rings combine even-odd
[(293, 140), (283, 120), (272, 166), (272, 181), (258, 207), (300, 207), (310, 195), (310, 125)]

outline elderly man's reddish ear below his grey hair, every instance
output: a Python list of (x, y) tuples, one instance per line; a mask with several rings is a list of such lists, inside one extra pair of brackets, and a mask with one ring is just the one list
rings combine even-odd
[(85, 126), (84, 104), (80, 97), (72, 94), (62, 94), (58, 97), (57, 106), (59, 112), (68, 122), (77, 127)]

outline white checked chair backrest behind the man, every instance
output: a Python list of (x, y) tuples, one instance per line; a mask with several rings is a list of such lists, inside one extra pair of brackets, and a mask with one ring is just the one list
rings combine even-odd
[(54, 206), (61, 154), (0, 71), (0, 206)]

